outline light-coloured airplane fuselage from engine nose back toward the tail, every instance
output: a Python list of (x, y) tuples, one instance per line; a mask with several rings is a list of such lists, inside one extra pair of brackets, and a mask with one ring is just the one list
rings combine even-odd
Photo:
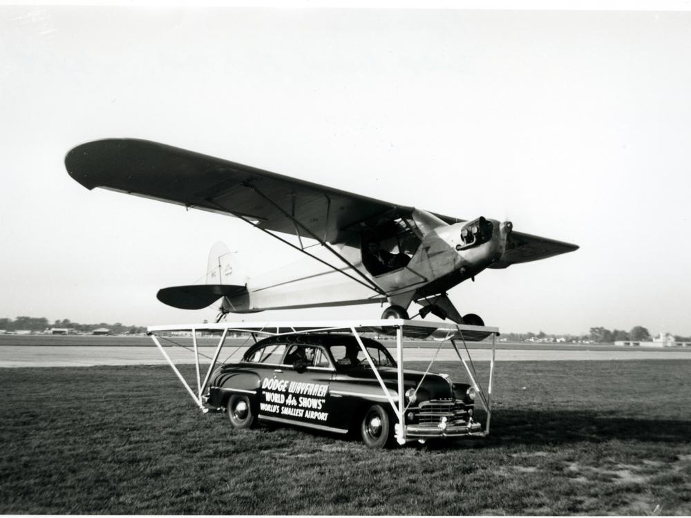
[[(333, 245), (347, 265), (320, 247), (313, 255), (338, 265), (334, 270), (313, 258), (305, 258), (247, 281), (247, 293), (225, 301), (234, 312), (262, 311), (316, 306), (337, 306), (395, 301), (407, 307), (424, 296), (444, 293), (460, 282), (479, 274), (502, 256), (510, 224), (482, 220), (484, 236), (475, 242), (464, 241), (464, 229), (477, 222), (447, 224), (424, 211), (414, 211), (415, 231), (419, 244), (408, 258), (408, 264), (373, 276), (363, 265), (363, 239)], [(478, 232), (482, 231), (480, 229)], [(472, 236), (471, 236), (472, 238)], [(399, 250), (400, 252), (400, 250)], [(357, 272), (354, 271), (357, 269)], [(355, 282), (354, 278), (372, 280), (381, 293)]]

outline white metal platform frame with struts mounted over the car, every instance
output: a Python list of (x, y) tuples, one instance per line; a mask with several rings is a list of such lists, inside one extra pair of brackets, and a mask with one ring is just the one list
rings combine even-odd
[[(175, 374), (178, 376), (178, 378), (182, 382), (182, 385), (184, 385), (185, 389), (192, 397), (196, 405), (200, 408), (200, 410), (202, 410), (202, 412), (209, 411), (209, 409), (205, 407), (204, 402), (202, 401), (202, 394), (204, 394), (207, 388), (207, 384), (209, 383), (211, 373), (214, 372), (214, 369), (216, 368), (216, 363), (218, 363), (218, 357), (220, 356), (220, 352), (223, 349), (223, 346), (225, 345), (225, 340), (229, 332), (252, 335), (255, 341), (257, 341), (258, 337), (267, 338), (269, 336), (286, 336), (306, 333), (348, 332), (352, 334), (352, 336), (354, 336), (354, 338), (357, 340), (357, 343), (362, 349), (365, 358), (367, 359), (368, 363), (370, 364), (370, 367), (372, 368), (372, 370), (375, 373), (375, 376), (377, 377), (379, 385), (381, 385), (381, 390), (384, 392), (384, 395), (386, 396), (388, 403), (390, 403), (393, 412), (396, 418), (398, 419), (398, 423), (395, 425), (395, 437), (399, 444), (404, 444), (406, 443), (406, 441), (410, 440), (417, 440), (408, 439), (406, 437), (407, 426), (405, 414), (407, 406), (404, 401), (405, 398), (399, 397), (401, 394), (404, 394), (403, 338), (431, 338), (432, 340), (439, 342), (437, 352), (435, 353), (434, 358), (427, 367), (425, 375), (429, 372), (430, 367), (432, 367), (442, 345), (444, 345), (444, 343), (448, 341), (448, 343), (450, 343), (453, 347), (453, 350), (462, 362), (463, 366), (465, 367), (466, 373), (468, 374), (468, 377), (470, 378), (473, 387), (475, 387), (475, 401), (477, 402), (477, 400), (479, 399), (480, 404), (486, 412), (486, 422), (484, 423), (484, 430), (481, 429), (477, 432), (470, 432), (468, 433), (468, 435), (480, 435), (482, 437), (485, 437), (489, 434), (489, 427), (492, 417), (491, 396), (492, 382), (494, 378), (496, 350), (495, 345), (496, 336), (499, 334), (498, 327), (458, 325), (451, 322), (426, 322), (423, 320), (404, 320), (402, 318), (389, 318), (386, 320), (319, 320), (307, 322), (290, 321), (266, 323), (225, 322), (216, 324), (152, 325), (149, 326), (147, 329), (149, 332), (149, 336), (151, 336), (151, 338), (153, 339), (153, 343), (155, 343), (156, 347), (158, 347), (163, 357), (166, 359), (166, 361), (173, 369), (173, 372), (175, 372)], [(196, 365), (196, 393), (189, 385), (189, 383), (187, 383), (187, 380), (185, 380), (184, 376), (180, 374), (178, 367), (176, 367), (175, 363), (173, 363), (170, 356), (167, 354), (164, 347), (161, 345), (160, 340), (158, 339), (159, 336), (157, 336), (157, 334), (167, 332), (191, 332), (194, 352), (194, 363)], [(221, 332), (220, 340), (218, 341), (218, 345), (216, 346), (214, 357), (211, 359), (211, 363), (209, 364), (209, 368), (207, 370), (203, 383), (201, 381), (200, 375), (200, 355), (197, 344), (197, 334), (200, 332)], [(360, 334), (365, 332), (378, 332), (380, 334), (388, 334), (390, 336), (395, 335), (396, 337), (398, 390), (397, 394), (395, 395), (389, 392), (388, 388), (384, 384), (384, 381), (381, 379), (381, 376), (379, 376), (379, 372), (377, 372), (374, 363), (372, 363), (372, 358), (370, 358), (369, 354), (367, 354), (366, 347), (363, 344), (360, 337)], [(474, 367), (471, 370), (471, 368), (468, 366), (468, 363), (470, 363), (471, 366), (473, 366), (473, 363), (470, 351), (466, 346), (466, 342), (477, 342), (483, 340), (484, 338), (488, 338), (489, 336), (491, 336), (492, 340), (492, 356), (489, 367), (489, 382), (487, 385), (487, 390), (486, 392), (484, 392), (482, 386), (479, 383), (477, 383), (477, 380), (475, 379), (476, 376), (474, 373)], [(467, 360), (461, 354), (460, 348), (457, 346), (456, 340), (462, 341), (463, 348), (468, 356)], [(422, 381), (420, 383), (422, 383)], [(416, 387), (415, 392), (417, 392), (417, 388), (419, 388), (419, 385)]]

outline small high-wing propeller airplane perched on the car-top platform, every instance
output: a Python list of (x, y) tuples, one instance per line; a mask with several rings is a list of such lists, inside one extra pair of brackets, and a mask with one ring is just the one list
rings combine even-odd
[(161, 302), (229, 313), (388, 303), (381, 318), (484, 325), (462, 316), (448, 290), (484, 269), (578, 249), (513, 230), (510, 221), (462, 220), (137, 139), (87, 142), (68, 152), (69, 175), (101, 187), (243, 220), (309, 258), (248, 278), (223, 243), (209, 254), (206, 283), (160, 289)]

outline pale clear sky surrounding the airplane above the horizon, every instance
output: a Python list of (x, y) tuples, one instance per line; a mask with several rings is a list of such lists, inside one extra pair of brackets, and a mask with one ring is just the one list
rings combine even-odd
[(250, 276), (299, 259), (66, 173), (135, 137), (580, 245), (449, 292), (503, 331), (691, 335), (690, 64), (691, 12), (0, 6), (0, 317), (211, 320), (155, 293), (214, 242)]

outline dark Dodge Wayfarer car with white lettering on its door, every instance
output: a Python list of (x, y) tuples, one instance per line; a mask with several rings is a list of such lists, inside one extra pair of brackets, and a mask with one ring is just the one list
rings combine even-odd
[[(397, 403), (397, 364), (381, 343), (360, 340), (369, 360), (352, 335), (265, 338), (249, 347), (238, 363), (212, 374), (203, 401), (212, 410), (227, 412), (233, 428), (296, 425), (357, 432), (370, 448), (390, 446), (398, 419), (382, 385)], [(482, 433), (482, 425), (473, 421), (471, 385), (452, 383), (446, 374), (403, 372), (406, 439)]]

